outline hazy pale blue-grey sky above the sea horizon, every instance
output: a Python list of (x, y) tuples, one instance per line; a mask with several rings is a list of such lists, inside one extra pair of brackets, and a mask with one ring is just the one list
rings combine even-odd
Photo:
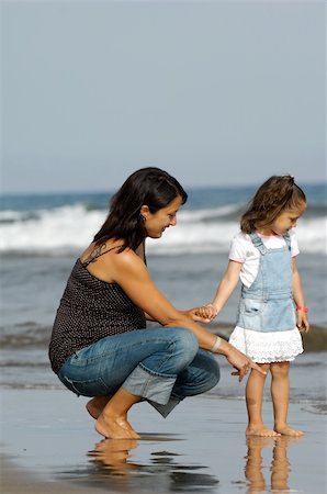
[(324, 1), (2, 1), (1, 189), (326, 179)]

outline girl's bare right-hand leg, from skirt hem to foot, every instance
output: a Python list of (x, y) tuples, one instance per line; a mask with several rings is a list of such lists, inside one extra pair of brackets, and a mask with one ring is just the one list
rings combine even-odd
[(274, 413), (274, 430), (285, 436), (298, 437), (302, 430), (295, 430), (287, 425), (290, 401), (290, 362), (273, 362), (271, 371), (271, 397)]

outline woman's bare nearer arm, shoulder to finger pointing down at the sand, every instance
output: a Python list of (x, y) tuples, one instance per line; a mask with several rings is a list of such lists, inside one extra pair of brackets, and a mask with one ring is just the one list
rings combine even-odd
[[(179, 312), (157, 289), (142, 259), (133, 250), (124, 250), (111, 258), (113, 280), (120, 284), (127, 296), (154, 321), (166, 327), (190, 329), (198, 337), (199, 346), (212, 350), (217, 337), (196, 324), (187, 313)], [(239, 380), (249, 368), (262, 373), (259, 366), (222, 339), (218, 353), (224, 355), (238, 370)]]

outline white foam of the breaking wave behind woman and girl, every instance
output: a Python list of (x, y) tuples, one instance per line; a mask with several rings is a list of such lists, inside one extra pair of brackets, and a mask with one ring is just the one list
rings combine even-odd
[[(207, 210), (185, 210), (178, 214), (178, 226), (167, 228), (160, 242), (148, 239), (154, 255), (225, 252), (238, 232), (237, 205)], [(32, 213), (0, 213), (0, 251), (63, 254), (84, 248), (102, 225), (104, 210), (87, 210), (75, 204)], [(234, 218), (235, 216), (235, 218)], [(302, 251), (326, 254), (326, 217), (301, 218), (297, 238)]]

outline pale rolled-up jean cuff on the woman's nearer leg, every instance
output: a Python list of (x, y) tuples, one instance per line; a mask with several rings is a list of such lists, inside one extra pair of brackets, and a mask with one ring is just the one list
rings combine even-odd
[(169, 402), (176, 377), (165, 377), (145, 370), (138, 364), (123, 383), (123, 389), (136, 396), (166, 405)]

